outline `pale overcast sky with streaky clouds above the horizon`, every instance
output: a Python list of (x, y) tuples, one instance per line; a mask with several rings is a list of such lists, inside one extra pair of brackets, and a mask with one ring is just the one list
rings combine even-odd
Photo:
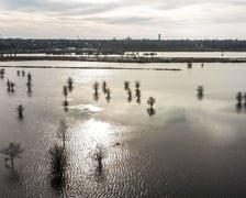
[(0, 0), (1, 37), (246, 38), (246, 0)]

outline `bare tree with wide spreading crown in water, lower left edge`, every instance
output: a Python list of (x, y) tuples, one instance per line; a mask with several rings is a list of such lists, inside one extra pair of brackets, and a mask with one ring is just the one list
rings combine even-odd
[(0, 153), (7, 155), (5, 162), (10, 161), (11, 168), (14, 167), (14, 158), (21, 158), (21, 154), (24, 152), (24, 148), (21, 147), (20, 143), (11, 142), (8, 147), (3, 147)]

